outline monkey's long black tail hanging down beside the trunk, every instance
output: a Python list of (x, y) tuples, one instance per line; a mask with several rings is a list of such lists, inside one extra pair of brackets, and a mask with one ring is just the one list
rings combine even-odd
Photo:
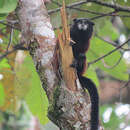
[(99, 124), (99, 96), (95, 84), (84, 76), (78, 74), (79, 81), (83, 88), (86, 88), (91, 99), (91, 130), (98, 130)]

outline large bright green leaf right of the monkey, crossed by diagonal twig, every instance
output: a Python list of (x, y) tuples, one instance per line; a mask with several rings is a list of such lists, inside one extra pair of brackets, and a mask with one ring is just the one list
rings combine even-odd
[[(94, 37), (91, 40), (91, 46), (90, 49), (87, 53), (87, 60), (89, 61), (94, 61), (97, 58), (107, 54), (108, 52), (112, 51), (115, 47), (112, 45)], [(107, 72), (109, 75), (113, 76), (116, 79), (119, 80), (128, 80), (128, 74), (127, 72), (127, 66), (122, 59), (120, 63), (114, 67), (111, 68), (113, 65), (115, 65), (118, 61), (119, 58), (121, 57), (121, 54), (119, 51), (113, 52), (111, 55), (108, 55), (102, 60), (99, 60), (98, 62), (92, 64), (95, 68), (98, 67), (101, 70)]]

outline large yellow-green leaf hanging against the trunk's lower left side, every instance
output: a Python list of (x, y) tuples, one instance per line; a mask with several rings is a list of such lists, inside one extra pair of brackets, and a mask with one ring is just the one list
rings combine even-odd
[(32, 114), (38, 117), (42, 124), (46, 124), (49, 121), (48, 100), (30, 56), (27, 56), (23, 65), (18, 68), (15, 90), (18, 98), (24, 98)]

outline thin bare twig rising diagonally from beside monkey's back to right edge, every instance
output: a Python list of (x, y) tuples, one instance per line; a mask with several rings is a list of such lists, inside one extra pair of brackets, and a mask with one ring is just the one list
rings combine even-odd
[(94, 60), (94, 61), (89, 62), (89, 63), (88, 63), (88, 66), (89, 66), (90, 64), (96, 63), (97, 61), (99, 61), (99, 60), (105, 58), (105, 57), (108, 56), (108, 55), (111, 55), (113, 52), (115, 52), (115, 51), (117, 51), (118, 49), (120, 49), (122, 46), (124, 46), (125, 44), (127, 44), (129, 41), (130, 41), (130, 38), (129, 38), (125, 43), (123, 43), (122, 45), (120, 45), (120, 46), (118, 46), (117, 48), (113, 49), (112, 51), (108, 52), (107, 54), (105, 54), (105, 55), (99, 57), (98, 59), (96, 59), (96, 60)]

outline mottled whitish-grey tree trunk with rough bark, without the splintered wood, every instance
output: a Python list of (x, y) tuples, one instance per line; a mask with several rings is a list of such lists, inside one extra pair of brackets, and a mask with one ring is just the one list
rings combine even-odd
[[(36, 70), (49, 99), (48, 117), (61, 130), (87, 130), (89, 98), (76, 78), (75, 88), (58, 79), (54, 70), (56, 37), (43, 0), (19, 0), (21, 42), (29, 46)], [(75, 76), (76, 77), (76, 76)]]

